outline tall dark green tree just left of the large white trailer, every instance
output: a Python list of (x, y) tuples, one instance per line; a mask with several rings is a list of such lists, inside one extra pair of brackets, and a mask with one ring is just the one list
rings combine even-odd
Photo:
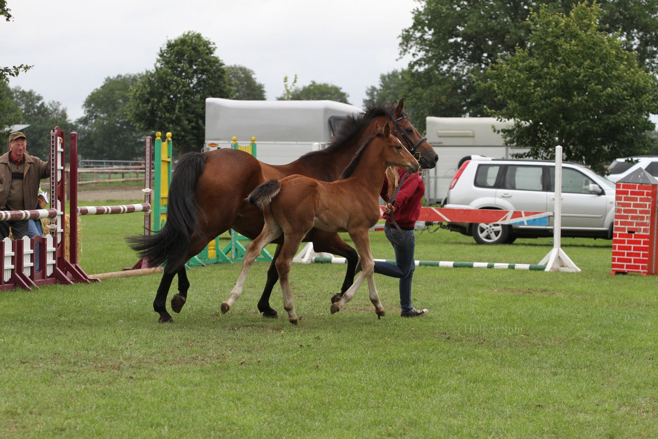
[(178, 154), (199, 151), (205, 140), (205, 99), (232, 94), (215, 49), (197, 32), (168, 40), (154, 70), (133, 89), (130, 121), (145, 132), (172, 132)]

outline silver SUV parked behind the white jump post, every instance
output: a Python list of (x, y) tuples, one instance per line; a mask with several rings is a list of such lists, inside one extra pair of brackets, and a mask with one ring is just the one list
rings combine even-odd
[[(450, 183), (443, 207), (553, 212), (555, 163), (472, 156)], [(562, 228), (565, 237), (611, 239), (615, 184), (578, 163), (562, 164)], [(546, 225), (448, 222), (449, 230), (471, 235), (478, 244), (511, 244), (517, 238), (553, 236)]]

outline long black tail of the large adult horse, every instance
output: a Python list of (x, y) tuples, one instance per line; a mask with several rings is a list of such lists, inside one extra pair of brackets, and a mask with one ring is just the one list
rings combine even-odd
[(196, 152), (181, 157), (169, 186), (167, 219), (163, 228), (149, 236), (126, 238), (130, 247), (152, 266), (166, 263), (164, 271), (169, 274), (186, 263), (191, 236), (198, 224), (197, 215), (203, 215), (195, 192), (206, 159), (207, 155)]

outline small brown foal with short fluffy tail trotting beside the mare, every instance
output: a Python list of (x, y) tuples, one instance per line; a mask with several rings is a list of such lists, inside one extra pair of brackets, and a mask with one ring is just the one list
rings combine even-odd
[(268, 180), (258, 186), (249, 195), (249, 203), (263, 209), (265, 226), (247, 246), (238, 282), (222, 303), (222, 313), (226, 313), (241, 296), (249, 267), (265, 245), (283, 235), (284, 244), (276, 259), (276, 270), (288, 321), (297, 324), (288, 274), (299, 244), (315, 227), (349, 233), (361, 257), (361, 274), (340, 300), (332, 305), (331, 313), (340, 311), (367, 278), (370, 301), (377, 315), (382, 317), (384, 307), (374, 284), (374, 261), (368, 229), (379, 220), (379, 193), (384, 182), (384, 171), (390, 166), (407, 169), (411, 174), (420, 167), (411, 153), (390, 134), (387, 123), (383, 129), (378, 128), (377, 133), (361, 147), (340, 180), (320, 182), (302, 175), (291, 175), (279, 181)]

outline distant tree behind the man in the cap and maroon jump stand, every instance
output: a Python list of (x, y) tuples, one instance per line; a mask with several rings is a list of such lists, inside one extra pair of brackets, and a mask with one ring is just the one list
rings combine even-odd
[(77, 131), (76, 125), (68, 120), (66, 109), (58, 101), (43, 102), (43, 96), (34, 90), (13, 88), (14, 101), (21, 112), (21, 123), (30, 124), (23, 132), (28, 138), (28, 151), (47, 160), (50, 153), (50, 132), (60, 126), (64, 132)]

